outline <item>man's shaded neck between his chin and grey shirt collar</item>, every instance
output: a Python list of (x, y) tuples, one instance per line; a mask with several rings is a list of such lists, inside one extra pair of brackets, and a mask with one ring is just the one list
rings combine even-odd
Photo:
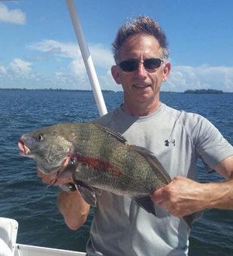
[(144, 117), (148, 114), (153, 114), (153, 112), (157, 111), (161, 106), (161, 102), (159, 102), (159, 99), (156, 102), (153, 102), (153, 104), (148, 105), (145, 104), (138, 104), (137, 102), (134, 102), (133, 104), (127, 104), (124, 102), (122, 105), (122, 109), (126, 114), (130, 114), (132, 116), (136, 117)]

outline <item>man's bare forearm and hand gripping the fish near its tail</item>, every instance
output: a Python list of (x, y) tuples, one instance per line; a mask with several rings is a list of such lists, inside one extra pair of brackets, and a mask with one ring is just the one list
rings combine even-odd
[(228, 181), (201, 184), (177, 176), (167, 186), (156, 190), (151, 199), (180, 217), (207, 208), (233, 210), (233, 155), (214, 169)]

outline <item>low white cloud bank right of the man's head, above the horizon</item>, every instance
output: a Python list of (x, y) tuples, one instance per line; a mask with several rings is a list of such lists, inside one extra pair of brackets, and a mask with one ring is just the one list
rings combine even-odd
[(162, 90), (216, 89), (233, 92), (233, 67), (174, 66)]

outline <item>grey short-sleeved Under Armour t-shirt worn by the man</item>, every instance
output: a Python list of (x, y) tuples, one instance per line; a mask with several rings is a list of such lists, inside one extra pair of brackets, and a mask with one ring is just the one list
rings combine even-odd
[[(133, 117), (116, 108), (95, 123), (123, 134), (129, 144), (149, 149), (174, 178), (194, 179), (197, 159), (207, 170), (233, 154), (219, 131), (198, 114), (162, 104), (145, 117)], [(158, 217), (129, 197), (106, 191), (98, 196), (86, 246), (89, 256), (181, 256), (188, 254), (189, 228), (182, 218), (156, 206)]]

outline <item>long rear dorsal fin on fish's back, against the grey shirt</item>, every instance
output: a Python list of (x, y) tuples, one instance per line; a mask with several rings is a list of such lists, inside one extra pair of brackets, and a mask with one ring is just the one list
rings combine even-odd
[(166, 184), (168, 184), (171, 181), (171, 177), (168, 175), (168, 172), (165, 171), (164, 167), (159, 162), (155, 154), (153, 154), (147, 148), (138, 147), (135, 145), (129, 145), (129, 148), (131, 148), (134, 151), (137, 151), (138, 154), (141, 154), (141, 156), (143, 156), (147, 160), (150, 166), (152, 166), (152, 169), (159, 171), (160, 175), (162, 175), (165, 178)]

